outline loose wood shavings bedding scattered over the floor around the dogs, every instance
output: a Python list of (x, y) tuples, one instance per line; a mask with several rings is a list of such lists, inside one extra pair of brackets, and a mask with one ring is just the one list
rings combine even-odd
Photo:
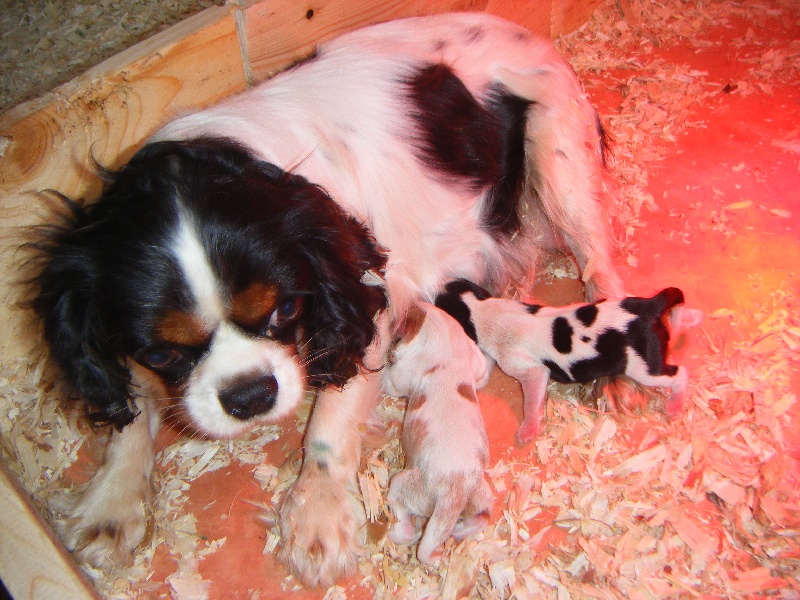
[[(679, 0), (620, 5), (622, 11), (612, 2), (602, 5), (559, 43), (590, 90), (624, 95), (604, 125), (614, 138), (608, 186), (618, 199), (615, 232), (631, 264), (645, 226), (642, 210), (656, 206), (648, 169), (657, 168), (686, 128), (704, 125), (693, 114), (698, 105), (725, 93), (765, 93), (769, 81), (796, 80), (798, 66), (792, 52), (745, 57), (755, 66), (747, 62), (737, 89), (725, 92), (724, 82), (709, 81), (702, 71), (651, 57), (652, 48), (708, 47), (713, 42), (700, 37), (705, 28), (750, 18), (749, 9), (713, 2), (689, 8)], [(780, 6), (769, 10), (786, 10)], [(766, 44), (765, 38), (749, 29), (738, 47)], [(721, 201), (711, 226), (724, 234), (731, 226), (722, 215), (749, 208)], [(688, 229), (678, 234), (689, 239)], [(561, 261), (539, 275), (573, 274)], [(689, 349), (692, 386), (675, 422), (665, 421), (657, 398), (615, 412), (609, 400), (591, 408), (575, 388), (551, 384), (544, 434), (528, 448), (509, 447), (488, 471), (496, 519), (476, 537), (448, 541), (437, 568), (423, 567), (413, 548), (386, 539), (388, 481), (403, 465), (397, 440), (403, 403), (387, 398), (378, 417), (389, 441), (365, 452), (359, 476), (370, 524), (356, 587), (377, 599), (798, 597), (800, 457), (788, 452), (785, 435), (797, 402), (790, 378), (800, 345), (793, 286), (786, 281), (765, 294), (752, 314), (720, 307), (709, 315), (698, 347)], [(741, 333), (751, 330), (757, 334)], [(57, 508), (58, 479), (75, 461), (86, 430), (57, 407), (58, 388), (38, 365), (4, 365), (0, 432), (5, 458), (47, 513)], [(297, 427), (310, 406), (309, 399)], [(90, 572), (103, 594), (163, 594), (163, 584), (150, 581), (160, 551), (176, 562), (166, 579), (173, 598), (208, 597), (211, 582), (200, 565), (230, 542), (198, 535), (199, 515), (187, 509), (187, 494), (192, 482), (231, 463), (251, 470), (263, 490), (264, 553), (273, 554), (280, 543), (277, 510), (301, 457), (286, 449), (289, 459), (273, 464), (266, 449), (281, 447), (291, 428), (276, 425), (235, 442), (181, 439), (164, 448), (149, 545), (130, 568), (110, 577)], [(297, 583), (288, 578), (283, 586), (289, 593)], [(319, 597), (351, 593), (352, 586), (333, 586)]]

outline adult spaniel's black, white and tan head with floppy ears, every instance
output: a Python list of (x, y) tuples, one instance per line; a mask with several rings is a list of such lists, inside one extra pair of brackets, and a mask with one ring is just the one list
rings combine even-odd
[(216, 139), (145, 146), (39, 244), (34, 308), (97, 421), (134, 417), (144, 367), (190, 424), (231, 436), (355, 375), (385, 258), (319, 187)]

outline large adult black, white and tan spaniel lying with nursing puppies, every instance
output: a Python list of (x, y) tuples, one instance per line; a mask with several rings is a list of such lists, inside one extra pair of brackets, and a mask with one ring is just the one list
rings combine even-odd
[(167, 124), (40, 245), (52, 355), (114, 426), (68, 546), (96, 566), (130, 559), (168, 402), (229, 437), (311, 387), (281, 556), (306, 585), (352, 573), (359, 424), (392, 328), (453, 278), (499, 292), (559, 245), (590, 299), (621, 296), (602, 163), (595, 111), (553, 45), (483, 14), (349, 33)]

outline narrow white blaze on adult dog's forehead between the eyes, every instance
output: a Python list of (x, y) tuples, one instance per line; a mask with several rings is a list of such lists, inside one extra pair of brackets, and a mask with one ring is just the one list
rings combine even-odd
[(197, 314), (208, 323), (218, 323), (225, 315), (219, 282), (191, 219), (182, 214), (179, 220), (173, 253), (194, 296)]

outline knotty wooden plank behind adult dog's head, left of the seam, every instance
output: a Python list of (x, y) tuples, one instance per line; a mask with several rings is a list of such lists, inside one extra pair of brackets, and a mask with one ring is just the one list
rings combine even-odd
[(200, 13), (0, 119), (0, 362), (30, 355), (36, 336), (17, 304), (17, 252), (52, 202), (100, 188), (94, 161), (114, 167), (171, 115), (245, 88), (233, 15)]

